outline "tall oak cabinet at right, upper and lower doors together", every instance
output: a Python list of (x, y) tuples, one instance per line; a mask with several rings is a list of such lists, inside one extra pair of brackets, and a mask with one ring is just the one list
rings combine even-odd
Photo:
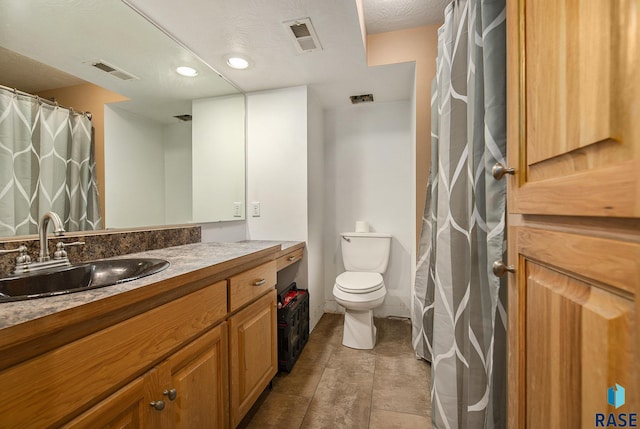
[(510, 428), (640, 413), (638, 23), (637, 0), (507, 2)]

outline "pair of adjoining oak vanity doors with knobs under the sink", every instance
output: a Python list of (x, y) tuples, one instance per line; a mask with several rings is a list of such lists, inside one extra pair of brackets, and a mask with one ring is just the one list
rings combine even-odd
[(227, 356), (223, 322), (63, 428), (225, 428)]

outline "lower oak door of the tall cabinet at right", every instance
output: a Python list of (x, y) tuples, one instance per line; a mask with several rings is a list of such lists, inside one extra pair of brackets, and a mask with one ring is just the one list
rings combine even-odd
[[(509, 427), (597, 427), (597, 414), (640, 407), (640, 244), (513, 227)], [(608, 404), (620, 385), (626, 403)]]

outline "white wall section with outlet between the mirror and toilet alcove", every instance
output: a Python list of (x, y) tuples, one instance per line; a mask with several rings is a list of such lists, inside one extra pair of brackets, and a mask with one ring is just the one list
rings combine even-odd
[(247, 238), (306, 241), (307, 234), (307, 88), (249, 93)]

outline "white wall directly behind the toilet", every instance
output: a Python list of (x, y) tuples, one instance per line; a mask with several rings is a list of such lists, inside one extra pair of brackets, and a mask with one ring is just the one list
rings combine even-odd
[(374, 103), (325, 111), (325, 297), (327, 311), (342, 311), (333, 299), (335, 277), (344, 271), (338, 234), (365, 220), (373, 231), (393, 235), (387, 296), (376, 316), (410, 316), (411, 254), (415, 246), (412, 207), (412, 124), (409, 101)]

